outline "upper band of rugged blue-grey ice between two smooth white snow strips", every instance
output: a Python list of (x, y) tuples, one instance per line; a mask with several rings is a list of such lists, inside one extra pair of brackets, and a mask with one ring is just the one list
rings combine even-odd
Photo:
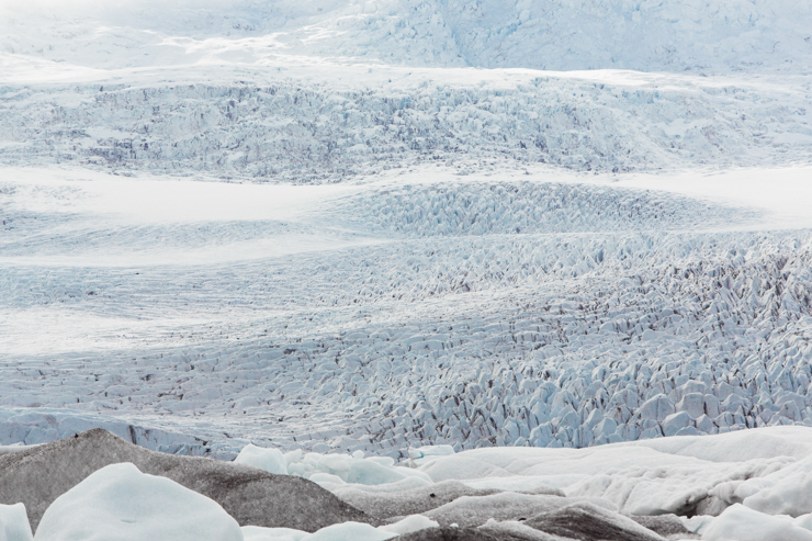
[(240, 83), (228, 72), (221, 83), (7, 87), (0, 162), (325, 182), (419, 161), (459, 174), (539, 161), (628, 171), (787, 165), (812, 153), (803, 78), (780, 88), (545, 72), (443, 82), (429, 70), (393, 83), (346, 70), (359, 70), (347, 88), (267, 71)]

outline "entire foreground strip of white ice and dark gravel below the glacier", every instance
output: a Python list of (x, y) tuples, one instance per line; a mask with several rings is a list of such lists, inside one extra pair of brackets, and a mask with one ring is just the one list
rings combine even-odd
[[(25, 503), (0, 505), (0, 532), (15, 541), (32, 541), (32, 526), (35, 541), (810, 541), (811, 451), (809, 428), (767, 427), (585, 449), (424, 447), (401, 465), (361, 451), (247, 446), (235, 465), (153, 453), (97, 430), (4, 458), (2, 496)], [(56, 465), (58, 492), (38, 471)]]

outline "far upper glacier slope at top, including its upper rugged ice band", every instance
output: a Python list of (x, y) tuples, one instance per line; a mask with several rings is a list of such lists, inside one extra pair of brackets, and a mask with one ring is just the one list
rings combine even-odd
[(0, 7), (0, 164), (322, 182), (812, 149), (793, 0), (43, 3)]

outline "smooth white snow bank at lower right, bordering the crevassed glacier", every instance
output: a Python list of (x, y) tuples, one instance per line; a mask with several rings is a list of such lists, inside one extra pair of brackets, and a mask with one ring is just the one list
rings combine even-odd
[(772, 427), (579, 450), (476, 449), (438, 458), (420, 471), (435, 482), (474, 487), (560, 486), (568, 496), (605, 498), (631, 515), (723, 509), (746, 496), (753, 508), (798, 516), (812, 511), (811, 462), (797, 462), (812, 455), (810, 443), (810, 428)]

